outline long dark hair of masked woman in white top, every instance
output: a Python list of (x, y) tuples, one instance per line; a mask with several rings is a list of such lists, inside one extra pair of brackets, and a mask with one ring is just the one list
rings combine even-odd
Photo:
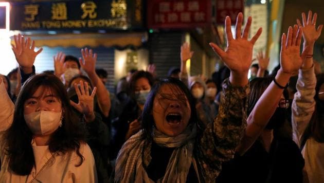
[(49, 151), (51, 153), (58, 151), (63, 154), (75, 151), (80, 158), (80, 163), (76, 167), (83, 162), (80, 143), (85, 142), (85, 129), (69, 103), (70, 100), (63, 83), (55, 75), (34, 75), (22, 86), (15, 103), (13, 122), (4, 132), (5, 153), (9, 158), (9, 168), (18, 175), (29, 175), (35, 164), (30, 143), (33, 134), (24, 118), (24, 103), (40, 86), (55, 93), (62, 103), (62, 109), (64, 109), (63, 125), (52, 134), (48, 144)]

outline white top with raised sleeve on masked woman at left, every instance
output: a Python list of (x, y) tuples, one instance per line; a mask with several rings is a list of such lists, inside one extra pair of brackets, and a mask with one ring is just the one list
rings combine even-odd
[[(0, 103), (2, 109), (0, 110), (0, 133), (7, 130), (12, 123), (14, 105), (11, 102), (4, 84), (0, 84)], [(19, 134), (17, 134), (19, 135)], [(0, 137), (0, 144), (4, 140)], [(0, 147), (1, 157), (1, 171), (0, 183), (2, 182), (30, 182), (36, 172), (44, 166), (46, 161), (51, 158), (52, 153), (49, 152), (48, 145), (37, 146), (33, 141), (31, 142), (35, 166), (29, 175), (17, 175), (9, 169), (9, 158), (4, 152), (4, 147)], [(76, 167), (80, 162), (80, 158), (76, 152), (66, 154), (56, 154), (54, 158), (44, 167), (43, 171), (37, 176), (38, 181), (34, 182), (97, 182), (97, 172), (95, 166), (94, 156), (91, 149), (86, 143), (80, 143), (80, 153), (84, 157), (81, 166)]]

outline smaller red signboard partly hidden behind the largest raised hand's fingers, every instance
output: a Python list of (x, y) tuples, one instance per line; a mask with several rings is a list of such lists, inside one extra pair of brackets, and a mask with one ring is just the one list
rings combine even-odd
[(224, 24), (225, 17), (229, 16), (232, 24), (236, 22), (239, 12), (243, 13), (244, 0), (217, 0), (216, 2), (216, 22)]

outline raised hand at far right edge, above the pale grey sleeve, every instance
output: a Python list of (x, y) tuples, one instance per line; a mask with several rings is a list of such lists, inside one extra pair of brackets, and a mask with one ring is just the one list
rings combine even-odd
[(303, 39), (306, 45), (314, 45), (315, 41), (319, 38), (322, 31), (323, 25), (319, 25), (316, 30), (316, 20), (317, 13), (314, 13), (312, 19), (312, 11), (308, 12), (308, 17), (306, 19), (305, 13), (301, 13), (302, 24), (299, 19), (297, 19), (297, 24), (299, 27), (303, 27)]

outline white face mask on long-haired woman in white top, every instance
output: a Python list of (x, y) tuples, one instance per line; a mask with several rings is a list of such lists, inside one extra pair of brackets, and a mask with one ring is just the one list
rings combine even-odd
[(24, 115), (27, 126), (34, 135), (48, 135), (55, 132), (61, 122), (62, 111), (39, 111)]

